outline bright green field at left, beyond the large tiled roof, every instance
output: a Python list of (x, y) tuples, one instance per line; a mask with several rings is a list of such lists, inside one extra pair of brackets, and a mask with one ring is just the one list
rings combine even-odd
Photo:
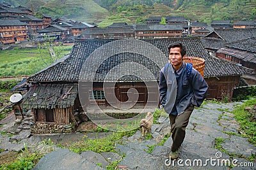
[[(55, 46), (58, 58), (70, 53), (72, 46)], [(0, 51), (0, 76), (31, 75), (51, 64), (50, 55), (39, 49), (19, 49)]]

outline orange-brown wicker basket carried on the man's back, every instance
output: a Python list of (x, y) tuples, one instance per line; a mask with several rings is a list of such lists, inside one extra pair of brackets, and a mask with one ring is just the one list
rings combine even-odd
[(195, 68), (204, 77), (205, 59), (200, 57), (186, 57), (183, 61), (193, 64), (193, 68)]

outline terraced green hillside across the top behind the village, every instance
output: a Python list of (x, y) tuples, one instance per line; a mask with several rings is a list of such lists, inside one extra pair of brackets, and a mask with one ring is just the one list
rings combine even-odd
[[(0, 0), (0, 2), (3, 0)], [(95, 22), (99, 26), (113, 22), (143, 23), (150, 16), (184, 16), (189, 20), (256, 20), (255, 0), (5, 0), (26, 6), (52, 17)], [(108, 9), (108, 10), (107, 10)]]

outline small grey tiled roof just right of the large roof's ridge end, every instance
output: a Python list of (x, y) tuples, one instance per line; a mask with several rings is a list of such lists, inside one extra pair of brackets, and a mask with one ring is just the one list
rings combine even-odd
[(220, 38), (202, 38), (201, 41), (205, 48), (214, 50), (219, 50), (224, 46), (224, 40)]

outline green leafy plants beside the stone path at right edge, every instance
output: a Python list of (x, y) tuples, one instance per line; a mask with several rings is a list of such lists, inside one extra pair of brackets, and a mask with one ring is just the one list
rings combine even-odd
[(232, 113), (235, 115), (237, 122), (241, 125), (241, 130), (245, 132), (248, 141), (256, 146), (256, 122), (248, 121), (250, 115), (248, 111), (244, 110), (246, 106), (253, 108), (254, 104), (256, 104), (256, 99), (249, 99), (241, 106), (237, 106), (236, 110), (233, 110)]

